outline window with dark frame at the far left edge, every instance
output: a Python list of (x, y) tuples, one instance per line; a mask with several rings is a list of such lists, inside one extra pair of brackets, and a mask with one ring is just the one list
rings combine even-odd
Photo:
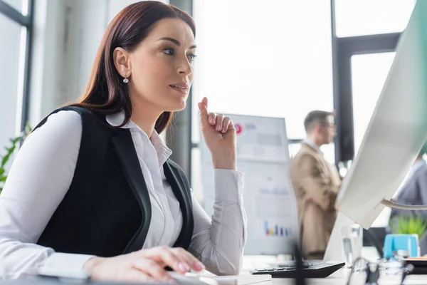
[(31, 3), (0, 0), (0, 41), (4, 43), (0, 45), (0, 155), (9, 146), (9, 138), (21, 132), (26, 114)]

